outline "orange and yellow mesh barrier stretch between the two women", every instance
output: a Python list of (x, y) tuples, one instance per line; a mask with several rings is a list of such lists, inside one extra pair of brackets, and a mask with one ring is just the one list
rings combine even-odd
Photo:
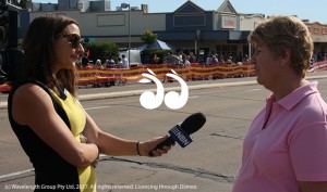
[(147, 64), (131, 68), (99, 68), (99, 67), (84, 67), (78, 68), (80, 81), (78, 85), (93, 85), (100, 82), (116, 81), (122, 79), (128, 82), (137, 82), (141, 80), (143, 73), (148, 73), (147, 68), (156, 74), (160, 80), (170, 80), (166, 74), (173, 69), (180, 77), (185, 80), (189, 79), (208, 79), (208, 78), (229, 78), (240, 76), (253, 76), (255, 71), (253, 64), (215, 64), (203, 65), (192, 63), (191, 65), (170, 65), (170, 64)]

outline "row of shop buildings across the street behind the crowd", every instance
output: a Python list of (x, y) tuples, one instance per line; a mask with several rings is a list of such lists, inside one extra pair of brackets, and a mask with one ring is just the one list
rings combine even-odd
[[(129, 11), (130, 9), (130, 11)], [(148, 13), (148, 5), (111, 11), (110, 1), (58, 0), (58, 4), (34, 3), (21, 11), (20, 38), (31, 21), (41, 14), (63, 14), (78, 21), (82, 38), (95, 42), (114, 42), (121, 48), (137, 48), (141, 36), (153, 30), (158, 39), (181, 50), (206, 55), (252, 54), (247, 36), (266, 20), (264, 14), (241, 14), (229, 0), (217, 10), (206, 11), (187, 0), (174, 12)], [(28, 15), (28, 16), (26, 16)], [(304, 21), (305, 22), (305, 21)], [(305, 22), (315, 42), (315, 52), (327, 52), (327, 25)], [(129, 38), (131, 37), (131, 38)]]

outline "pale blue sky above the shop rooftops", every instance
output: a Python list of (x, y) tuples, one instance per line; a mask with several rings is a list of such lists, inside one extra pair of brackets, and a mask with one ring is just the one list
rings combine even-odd
[[(114, 11), (121, 3), (131, 7), (148, 4), (149, 13), (173, 12), (187, 0), (110, 0)], [(206, 11), (217, 10), (223, 0), (191, 0)], [(58, 0), (33, 0), (33, 2), (58, 3)], [(282, 14), (296, 15), (301, 20), (327, 24), (326, 0), (230, 0), (238, 13), (262, 13), (266, 16)]]

